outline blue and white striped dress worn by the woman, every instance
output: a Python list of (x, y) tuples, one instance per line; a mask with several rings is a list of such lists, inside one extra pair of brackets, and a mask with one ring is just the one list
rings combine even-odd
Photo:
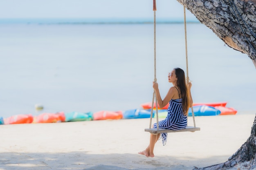
[[(161, 129), (171, 129), (180, 130), (186, 128), (188, 124), (187, 116), (184, 115), (182, 108), (182, 98), (171, 99), (167, 109), (167, 116), (164, 120), (159, 121), (159, 128)], [(155, 123), (154, 128), (157, 128)], [(167, 141), (167, 133), (161, 133), (163, 145)]]

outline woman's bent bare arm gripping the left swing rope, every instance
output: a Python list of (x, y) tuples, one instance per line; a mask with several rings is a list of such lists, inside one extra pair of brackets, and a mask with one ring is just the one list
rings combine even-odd
[(164, 97), (164, 100), (162, 100), (162, 97), (160, 95), (159, 89), (158, 89), (158, 84), (153, 82), (153, 88), (155, 90), (155, 93), (157, 95), (157, 103), (159, 105), (159, 108), (163, 108), (164, 106), (166, 106), (170, 100), (172, 99), (173, 95), (174, 95), (174, 91), (173, 88), (171, 87), (170, 90), (168, 91), (168, 93), (166, 94), (166, 96)]

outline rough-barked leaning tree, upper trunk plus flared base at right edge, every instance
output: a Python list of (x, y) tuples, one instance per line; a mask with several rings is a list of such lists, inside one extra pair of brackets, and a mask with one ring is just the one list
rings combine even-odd
[[(177, 0), (229, 47), (256, 67), (256, 0)], [(225, 163), (200, 170), (256, 170), (256, 117), (251, 136)]]

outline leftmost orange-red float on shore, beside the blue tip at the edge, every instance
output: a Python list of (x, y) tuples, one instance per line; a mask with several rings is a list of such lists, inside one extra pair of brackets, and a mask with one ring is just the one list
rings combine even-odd
[(13, 115), (4, 119), (4, 124), (31, 124), (34, 117), (31, 114)]

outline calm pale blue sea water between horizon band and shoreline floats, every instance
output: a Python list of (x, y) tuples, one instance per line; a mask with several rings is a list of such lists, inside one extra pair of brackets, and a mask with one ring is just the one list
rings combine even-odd
[[(183, 24), (156, 26), (157, 82), (186, 72)], [(152, 101), (153, 24), (0, 24), (0, 117), (141, 108)], [(200, 23), (187, 24), (194, 102), (256, 113), (256, 70)], [(35, 104), (44, 110), (35, 110)]]

